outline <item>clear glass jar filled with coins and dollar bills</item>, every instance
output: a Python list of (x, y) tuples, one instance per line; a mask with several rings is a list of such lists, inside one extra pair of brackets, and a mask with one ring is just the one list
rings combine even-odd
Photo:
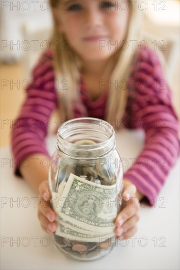
[(58, 129), (49, 169), (58, 224), (52, 238), (72, 259), (99, 259), (116, 244), (123, 166), (115, 147), (113, 127), (98, 118), (72, 119)]

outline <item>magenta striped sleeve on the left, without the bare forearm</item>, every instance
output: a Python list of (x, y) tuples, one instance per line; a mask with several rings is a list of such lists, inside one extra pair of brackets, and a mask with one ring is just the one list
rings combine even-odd
[(33, 80), (26, 88), (25, 102), (11, 132), (11, 149), (17, 176), (21, 176), (19, 166), (28, 156), (41, 153), (50, 157), (45, 137), (50, 126), (51, 112), (57, 107), (57, 96), (51, 58), (44, 56), (40, 57), (32, 71)]

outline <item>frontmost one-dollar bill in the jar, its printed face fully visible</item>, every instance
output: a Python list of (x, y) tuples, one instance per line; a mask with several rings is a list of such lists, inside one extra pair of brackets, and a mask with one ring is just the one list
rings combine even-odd
[[(85, 230), (112, 234), (118, 207), (116, 194), (116, 185), (103, 186), (71, 173), (57, 211), (66, 220), (65, 223), (68, 220)], [(68, 223), (66, 226), (68, 227)]]

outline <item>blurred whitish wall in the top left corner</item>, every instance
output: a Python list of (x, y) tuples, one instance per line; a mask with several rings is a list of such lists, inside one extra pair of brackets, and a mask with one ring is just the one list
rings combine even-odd
[[(22, 32), (25, 23), (36, 30), (51, 27), (49, 0), (0, 0), (1, 62), (20, 61), (26, 53), (29, 44), (24, 42)], [(34, 43), (30, 46), (33, 48)]]

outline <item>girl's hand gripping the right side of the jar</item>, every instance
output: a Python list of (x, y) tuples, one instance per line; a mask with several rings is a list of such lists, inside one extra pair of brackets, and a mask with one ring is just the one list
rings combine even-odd
[(118, 236), (118, 240), (122, 237), (129, 238), (137, 231), (136, 223), (139, 220), (140, 209), (139, 194), (136, 186), (129, 180), (124, 179), (122, 210), (115, 221), (115, 225), (117, 226), (115, 228), (115, 234)]

